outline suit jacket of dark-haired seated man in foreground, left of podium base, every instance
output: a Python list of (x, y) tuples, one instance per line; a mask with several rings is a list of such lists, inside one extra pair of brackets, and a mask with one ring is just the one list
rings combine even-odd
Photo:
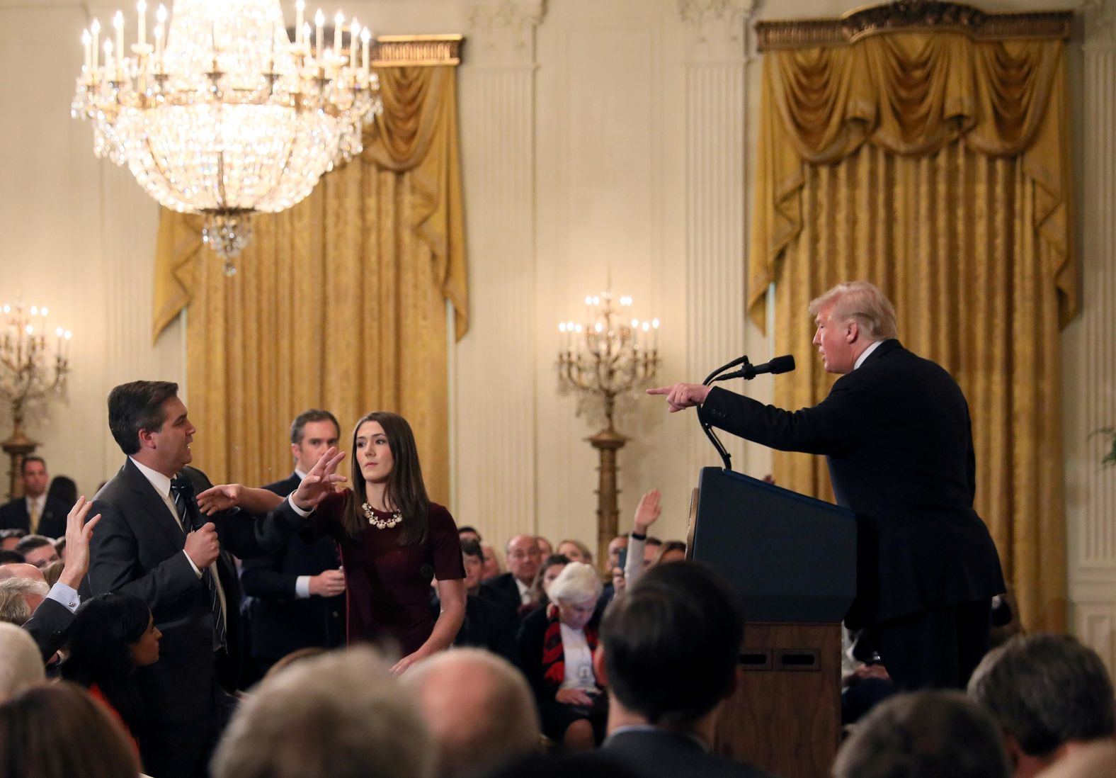
[(771, 778), (759, 768), (710, 753), (693, 738), (668, 730), (634, 730), (609, 736), (600, 756), (615, 759), (641, 778)]

